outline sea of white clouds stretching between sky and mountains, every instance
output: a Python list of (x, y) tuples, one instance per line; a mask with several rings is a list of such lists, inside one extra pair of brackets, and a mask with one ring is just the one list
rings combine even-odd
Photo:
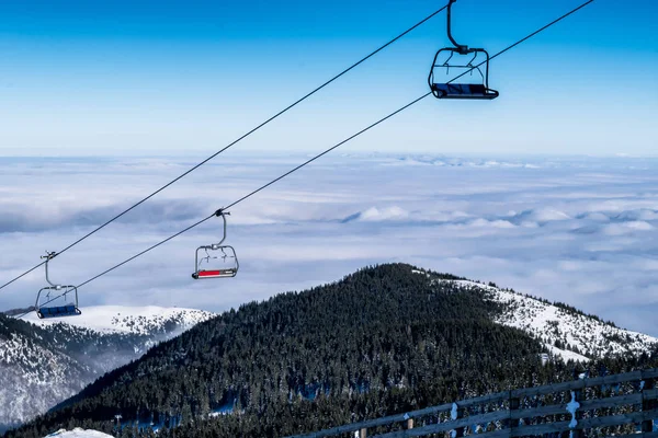
[[(79, 285), (307, 157), (219, 157), (67, 253)], [(194, 160), (0, 158), (0, 284), (190, 169)], [(213, 219), (80, 289), (80, 306), (226, 310), (406, 262), (563, 301), (658, 335), (658, 160), (334, 154), (231, 209), (234, 279), (195, 281)], [(0, 291), (26, 307), (39, 268)], [(419, 303), (419, 306), (421, 306)]]

